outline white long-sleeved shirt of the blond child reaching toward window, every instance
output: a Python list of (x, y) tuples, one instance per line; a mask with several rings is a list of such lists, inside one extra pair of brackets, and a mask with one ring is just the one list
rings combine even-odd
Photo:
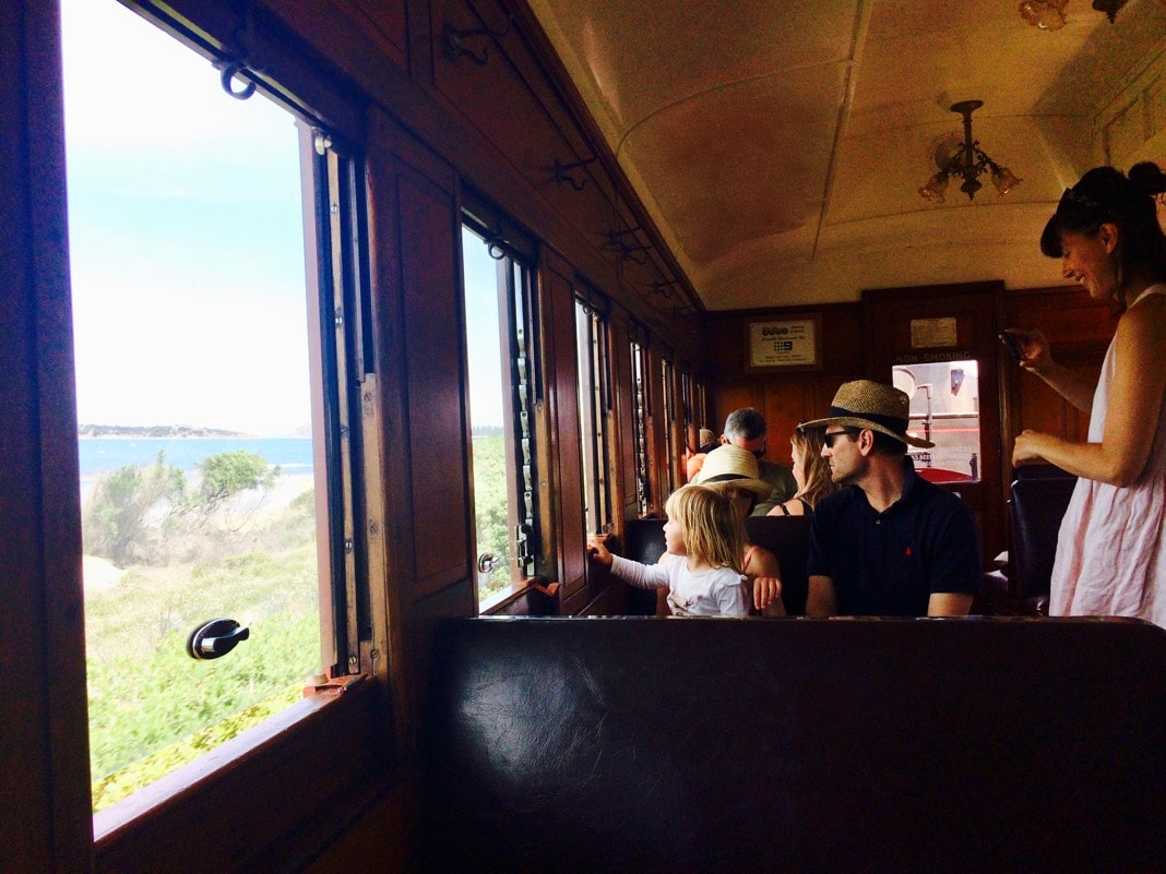
[(688, 570), (687, 556), (665, 552), (655, 564), (611, 557), (611, 572), (637, 588), (667, 588), (676, 616), (747, 616), (746, 578), (732, 568)]

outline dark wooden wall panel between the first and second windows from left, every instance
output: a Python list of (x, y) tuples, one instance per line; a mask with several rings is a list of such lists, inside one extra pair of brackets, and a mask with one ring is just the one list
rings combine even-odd
[(387, 568), (372, 585), (384, 586), (387, 615), (374, 618), (377, 641), (388, 664), (395, 746), (407, 760), (420, 743), (433, 622), (477, 612), (454, 245), (461, 225), (452, 170), (378, 108), (368, 128)]

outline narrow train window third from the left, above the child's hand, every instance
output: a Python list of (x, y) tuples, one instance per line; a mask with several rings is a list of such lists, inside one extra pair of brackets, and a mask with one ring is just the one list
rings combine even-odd
[(597, 295), (575, 298), (575, 343), (578, 354), (580, 446), (583, 465), (583, 515), (590, 534), (611, 530), (607, 471), (607, 414), (611, 371), (607, 319)]

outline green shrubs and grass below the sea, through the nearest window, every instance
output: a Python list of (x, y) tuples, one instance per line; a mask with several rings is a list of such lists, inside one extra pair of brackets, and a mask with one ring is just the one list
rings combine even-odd
[[(276, 487), (300, 489), (272, 500)], [(226, 452), (183, 472), (99, 474), (82, 507), (94, 812), (215, 748), (302, 695), (319, 670), (315, 493)], [(229, 656), (195, 661), (190, 633), (248, 628)]]

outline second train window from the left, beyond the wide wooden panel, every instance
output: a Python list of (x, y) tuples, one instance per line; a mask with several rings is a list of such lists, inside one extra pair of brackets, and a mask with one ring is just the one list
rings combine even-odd
[(542, 390), (529, 254), (478, 213), (465, 214), (462, 265), (478, 608), (487, 611), (536, 573)]

